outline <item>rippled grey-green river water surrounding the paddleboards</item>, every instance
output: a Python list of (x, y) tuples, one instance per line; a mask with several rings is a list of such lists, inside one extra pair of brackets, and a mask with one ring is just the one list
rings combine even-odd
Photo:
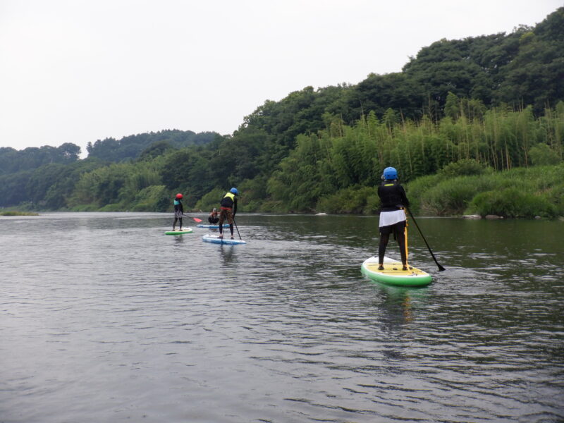
[(564, 222), (419, 218), (391, 288), (376, 217), (171, 221), (0, 218), (0, 422), (564, 420)]

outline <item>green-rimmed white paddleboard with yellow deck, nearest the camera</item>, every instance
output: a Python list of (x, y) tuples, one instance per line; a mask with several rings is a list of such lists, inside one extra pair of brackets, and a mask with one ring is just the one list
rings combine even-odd
[(384, 257), (384, 270), (378, 270), (378, 257), (364, 260), (360, 271), (373, 279), (388, 285), (426, 286), (431, 283), (431, 275), (407, 264), (408, 270), (402, 270), (401, 262)]

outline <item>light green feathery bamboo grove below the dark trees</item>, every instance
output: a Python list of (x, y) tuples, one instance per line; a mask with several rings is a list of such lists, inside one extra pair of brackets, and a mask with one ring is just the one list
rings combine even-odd
[(374, 187), (386, 166), (398, 168), (407, 182), (457, 161), (508, 171), (563, 159), (563, 102), (535, 118), (530, 107), (486, 110), (449, 94), (445, 115), (436, 123), (428, 116), (414, 122), (389, 109), (381, 119), (370, 113), (352, 126), (333, 118), (325, 130), (298, 136), (268, 181), (271, 200), (290, 210), (319, 209), (339, 190)]

